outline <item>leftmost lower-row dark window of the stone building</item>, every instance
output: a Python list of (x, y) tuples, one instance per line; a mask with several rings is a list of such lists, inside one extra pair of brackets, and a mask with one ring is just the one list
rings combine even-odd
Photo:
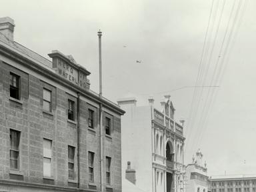
[(19, 169), (19, 137), (21, 132), (10, 129), (10, 168)]

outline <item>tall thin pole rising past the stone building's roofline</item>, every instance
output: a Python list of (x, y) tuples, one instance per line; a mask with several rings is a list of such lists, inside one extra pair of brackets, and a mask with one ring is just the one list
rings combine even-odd
[[(99, 98), (102, 99), (102, 67), (101, 67), (101, 36), (102, 32), (98, 31), (98, 37), (99, 37)], [(100, 174), (101, 174), (101, 191), (104, 191), (103, 187), (103, 125), (102, 125), (102, 103), (100, 101), (99, 103), (99, 145), (100, 145)]]

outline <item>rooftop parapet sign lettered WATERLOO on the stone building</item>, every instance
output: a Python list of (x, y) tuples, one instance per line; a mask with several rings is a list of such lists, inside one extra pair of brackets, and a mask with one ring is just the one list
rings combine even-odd
[(50, 53), (49, 56), (53, 58), (53, 68), (56, 70), (57, 75), (78, 85), (82, 89), (88, 88), (87, 75), (89, 75), (89, 71), (80, 70), (79, 66), (75, 64), (73, 57), (66, 57), (59, 51)]

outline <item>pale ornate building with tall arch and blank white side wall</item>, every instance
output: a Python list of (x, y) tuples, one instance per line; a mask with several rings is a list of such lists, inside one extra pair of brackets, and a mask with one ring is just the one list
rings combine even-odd
[(175, 120), (169, 95), (161, 110), (155, 109), (152, 98), (147, 106), (137, 107), (136, 102), (135, 98), (117, 102), (126, 111), (121, 122), (123, 192), (182, 192), (184, 121)]

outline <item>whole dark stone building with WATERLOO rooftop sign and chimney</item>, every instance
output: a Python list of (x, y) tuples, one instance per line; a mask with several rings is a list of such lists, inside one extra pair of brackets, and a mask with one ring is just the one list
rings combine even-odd
[(0, 191), (121, 191), (125, 111), (71, 55), (50, 61), (13, 41), (14, 27), (0, 19)]

